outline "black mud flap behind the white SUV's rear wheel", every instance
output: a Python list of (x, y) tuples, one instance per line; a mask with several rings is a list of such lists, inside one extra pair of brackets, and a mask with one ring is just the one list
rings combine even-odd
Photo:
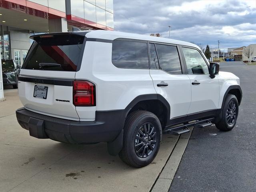
[(123, 147), (123, 137), (124, 137), (124, 130), (122, 129), (122, 131), (114, 141), (108, 142), (108, 153), (110, 155), (116, 156), (121, 151)]

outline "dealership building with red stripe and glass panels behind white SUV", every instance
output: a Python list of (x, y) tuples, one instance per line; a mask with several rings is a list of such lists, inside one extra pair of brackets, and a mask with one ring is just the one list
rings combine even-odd
[[(29, 36), (72, 27), (114, 30), (113, 0), (0, 0), (1, 58), (22, 65), (32, 44)], [(0, 92), (1, 81), (2, 73)]]

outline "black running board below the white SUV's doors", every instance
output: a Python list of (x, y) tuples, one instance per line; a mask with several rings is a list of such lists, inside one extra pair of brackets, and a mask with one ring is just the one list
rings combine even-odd
[(212, 122), (211, 122), (212, 120), (214, 120), (214, 118), (198, 120), (192, 123), (183, 124), (181, 126), (167, 128), (166, 130), (163, 131), (163, 134), (180, 135), (183, 133), (187, 133), (187, 132), (190, 132), (190, 129), (189, 129), (190, 127), (204, 128), (212, 125)]

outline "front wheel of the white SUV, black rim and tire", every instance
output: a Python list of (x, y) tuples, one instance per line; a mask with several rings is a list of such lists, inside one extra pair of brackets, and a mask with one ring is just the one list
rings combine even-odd
[(222, 115), (219, 122), (217, 122), (216, 128), (221, 131), (230, 131), (236, 125), (238, 117), (238, 100), (236, 96), (228, 94), (222, 108)]

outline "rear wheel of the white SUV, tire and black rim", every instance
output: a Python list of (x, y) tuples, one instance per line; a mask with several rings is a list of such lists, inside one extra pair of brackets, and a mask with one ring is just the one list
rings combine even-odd
[(157, 116), (148, 111), (134, 111), (124, 125), (123, 148), (119, 157), (136, 168), (147, 166), (156, 157), (161, 140), (162, 126)]

